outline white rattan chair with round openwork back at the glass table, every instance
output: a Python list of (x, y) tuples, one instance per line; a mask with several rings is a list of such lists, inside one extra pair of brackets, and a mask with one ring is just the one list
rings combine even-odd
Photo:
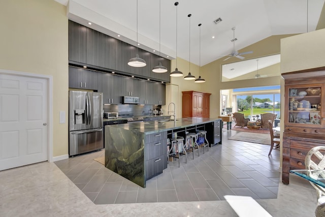
[[(306, 170), (319, 170), (319, 172), (308, 172), (307, 171), (307, 175), (308, 176), (321, 176), (323, 178), (325, 178), (325, 146), (316, 146), (311, 148), (308, 153), (306, 154), (305, 157), (305, 166), (306, 166)], [(317, 202), (320, 203), (324, 203), (324, 196), (325, 195), (325, 189), (320, 187), (319, 185), (309, 181), (310, 184), (312, 185), (312, 187), (314, 187), (316, 189), (316, 193), (317, 193)]]

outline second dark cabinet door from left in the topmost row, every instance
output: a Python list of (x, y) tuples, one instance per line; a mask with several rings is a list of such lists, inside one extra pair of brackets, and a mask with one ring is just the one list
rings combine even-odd
[(91, 28), (87, 29), (87, 64), (104, 67), (103, 64), (104, 34)]

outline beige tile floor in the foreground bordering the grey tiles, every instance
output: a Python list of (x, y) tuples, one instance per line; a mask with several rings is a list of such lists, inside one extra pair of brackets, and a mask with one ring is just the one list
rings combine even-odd
[[(223, 131), (222, 146), (231, 133)], [(315, 190), (294, 175), (289, 185), (280, 182), (276, 199), (256, 201), (272, 216), (314, 216), (316, 208)], [(0, 172), (0, 216), (238, 215), (224, 200), (96, 205), (54, 163), (43, 162)]]

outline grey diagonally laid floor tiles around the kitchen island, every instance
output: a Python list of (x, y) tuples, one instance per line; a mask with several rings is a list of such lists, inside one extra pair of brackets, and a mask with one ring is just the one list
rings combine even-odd
[[(170, 161), (164, 173), (147, 181), (147, 188), (93, 161), (104, 150), (57, 161), (55, 164), (95, 204), (213, 201), (224, 195), (277, 198), (279, 150), (268, 157), (269, 145), (228, 140), (236, 131), (223, 131), (222, 144), (194, 159)], [(190, 155), (189, 155), (190, 156)]]

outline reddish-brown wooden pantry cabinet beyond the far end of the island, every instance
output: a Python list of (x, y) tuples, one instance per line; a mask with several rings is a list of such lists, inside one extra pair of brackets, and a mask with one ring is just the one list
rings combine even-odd
[(210, 117), (211, 94), (192, 90), (182, 93), (182, 117)]

